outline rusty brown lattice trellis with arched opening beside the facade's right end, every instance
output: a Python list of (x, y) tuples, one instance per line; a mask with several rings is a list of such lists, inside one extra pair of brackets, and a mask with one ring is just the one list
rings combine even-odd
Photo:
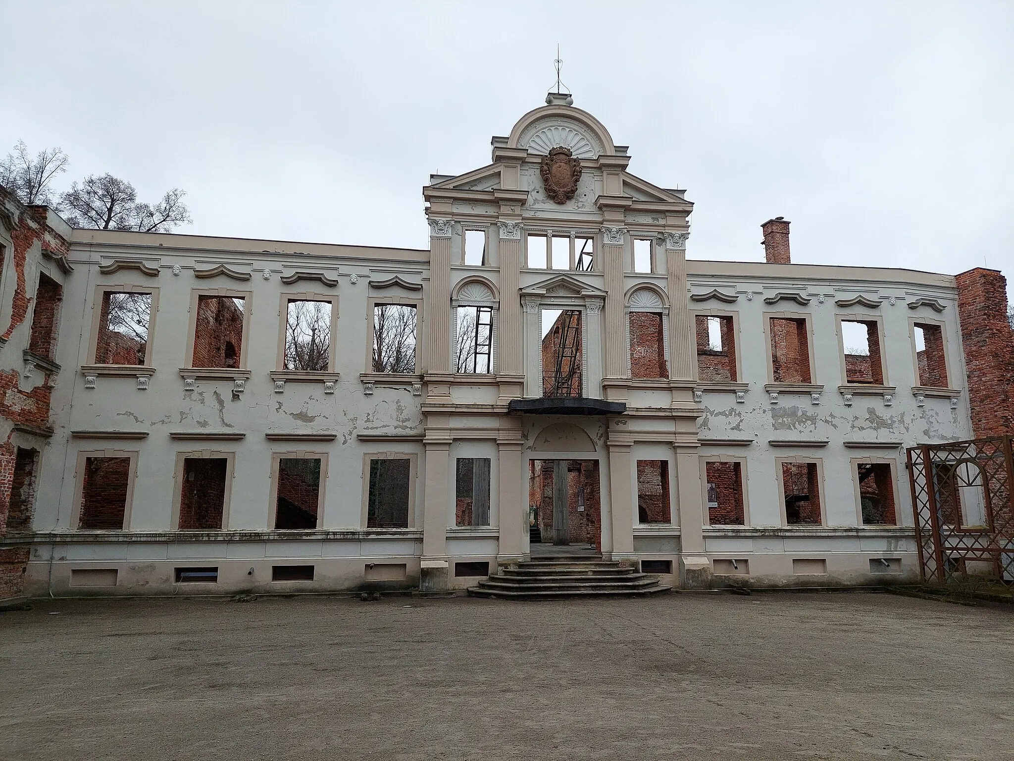
[(909, 447), (909, 482), (923, 579), (944, 582), (965, 563), (1014, 580), (1014, 438)]

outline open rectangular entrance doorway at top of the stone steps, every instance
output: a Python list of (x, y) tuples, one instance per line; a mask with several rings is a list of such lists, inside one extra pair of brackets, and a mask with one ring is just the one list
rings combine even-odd
[(597, 460), (528, 461), (532, 555), (602, 551)]

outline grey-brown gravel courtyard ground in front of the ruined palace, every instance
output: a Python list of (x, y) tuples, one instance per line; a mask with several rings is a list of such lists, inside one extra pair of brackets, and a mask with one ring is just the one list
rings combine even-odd
[(4, 759), (1012, 759), (1014, 613), (889, 595), (45, 601)]

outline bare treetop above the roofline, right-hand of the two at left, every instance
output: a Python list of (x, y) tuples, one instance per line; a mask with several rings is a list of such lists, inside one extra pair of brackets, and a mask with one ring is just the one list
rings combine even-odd
[(192, 221), (178, 188), (168, 191), (154, 206), (138, 203), (137, 191), (110, 174), (89, 175), (80, 185), (72, 183), (60, 197), (60, 210), (75, 227), (100, 230), (167, 232)]

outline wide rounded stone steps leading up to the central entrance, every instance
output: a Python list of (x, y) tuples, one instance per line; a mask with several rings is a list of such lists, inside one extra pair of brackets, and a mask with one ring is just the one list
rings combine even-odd
[(480, 598), (559, 600), (562, 598), (640, 597), (668, 592), (658, 577), (638, 573), (621, 560), (598, 555), (544, 556), (501, 568), (495, 576), (468, 587)]

